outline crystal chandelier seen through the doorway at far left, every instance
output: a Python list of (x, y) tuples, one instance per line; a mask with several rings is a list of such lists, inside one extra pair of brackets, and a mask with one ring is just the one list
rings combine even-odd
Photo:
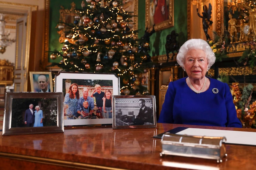
[(9, 39), (10, 30), (4, 31), (5, 29), (5, 20), (4, 20), (4, 14), (0, 14), (0, 53), (4, 54), (6, 51), (6, 47), (10, 46), (13, 42), (15, 42), (14, 39)]

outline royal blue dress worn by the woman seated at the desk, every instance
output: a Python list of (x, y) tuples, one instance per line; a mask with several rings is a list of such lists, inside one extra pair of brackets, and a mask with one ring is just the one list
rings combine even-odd
[(169, 83), (158, 123), (242, 127), (227, 83), (209, 78), (209, 89), (197, 94), (186, 78)]

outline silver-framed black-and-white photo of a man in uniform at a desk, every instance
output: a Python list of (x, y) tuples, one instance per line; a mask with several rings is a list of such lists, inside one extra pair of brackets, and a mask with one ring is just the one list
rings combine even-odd
[(154, 95), (114, 95), (113, 129), (157, 127)]

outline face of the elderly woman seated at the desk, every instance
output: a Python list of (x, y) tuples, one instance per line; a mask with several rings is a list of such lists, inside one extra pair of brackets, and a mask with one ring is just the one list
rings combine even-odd
[(189, 50), (185, 56), (184, 69), (190, 79), (202, 79), (207, 72), (207, 57), (203, 50)]

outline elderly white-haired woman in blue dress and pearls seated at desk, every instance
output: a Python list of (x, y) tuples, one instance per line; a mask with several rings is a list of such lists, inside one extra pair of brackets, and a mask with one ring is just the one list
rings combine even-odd
[(215, 62), (208, 43), (186, 41), (177, 62), (188, 77), (169, 83), (158, 123), (242, 127), (227, 83), (205, 76)]

